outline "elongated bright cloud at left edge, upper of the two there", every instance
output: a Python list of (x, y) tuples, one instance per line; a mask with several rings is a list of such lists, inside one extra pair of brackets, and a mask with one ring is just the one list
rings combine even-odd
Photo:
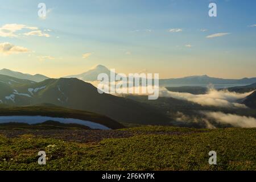
[(22, 29), (29, 29), (29, 30), (38, 30), (38, 27), (29, 27), (24, 24), (5, 24), (0, 27), (0, 36), (2, 37), (17, 37), (18, 35), (15, 34), (16, 31), (20, 31)]

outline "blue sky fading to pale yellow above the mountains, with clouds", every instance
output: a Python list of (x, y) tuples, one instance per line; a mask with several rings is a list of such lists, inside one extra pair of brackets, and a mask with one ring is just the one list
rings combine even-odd
[[(217, 17), (208, 15), (211, 2)], [(160, 78), (256, 77), (254, 0), (0, 3), (0, 69), (61, 77), (102, 64)]]

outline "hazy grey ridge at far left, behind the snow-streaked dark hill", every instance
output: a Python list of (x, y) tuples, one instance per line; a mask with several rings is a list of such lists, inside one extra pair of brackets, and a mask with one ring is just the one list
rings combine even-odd
[(30, 74), (26, 74), (26, 73), (11, 71), (10, 69), (1, 69), (0, 75), (6, 75), (6, 76), (19, 78), (19, 79), (31, 80), (31, 81), (35, 81), (35, 82), (40, 82), (40, 81), (44, 81), (44, 80), (48, 79), (48, 77), (44, 76), (44, 75), (39, 75), (39, 74), (30, 75)]

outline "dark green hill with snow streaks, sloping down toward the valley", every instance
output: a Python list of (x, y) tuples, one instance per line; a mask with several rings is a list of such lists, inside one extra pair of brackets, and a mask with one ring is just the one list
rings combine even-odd
[(53, 104), (91, 111), (118, 122), (168, 124), (169, 118), (154, 107), (127, 98), (99, 94), (92, 84), (77, 78), (31, 82), (0, 75), (0, 104), (28, 106)]

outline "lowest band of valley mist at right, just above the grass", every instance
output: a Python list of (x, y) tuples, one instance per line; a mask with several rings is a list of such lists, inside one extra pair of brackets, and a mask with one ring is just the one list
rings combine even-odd
[(229, 124), (234, 127), (256, 127), (256, 119), (236, 114), (225, 114), (221, 112), (202, 111), (208, 118), (215, 119), (216, 122)]

